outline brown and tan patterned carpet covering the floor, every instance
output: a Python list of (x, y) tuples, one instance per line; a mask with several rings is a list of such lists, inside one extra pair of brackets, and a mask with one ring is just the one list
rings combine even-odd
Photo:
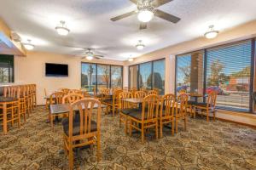
[[(47, 111), (38, 107), (20, 128), (0, 133), (0, 169), (67, 169), (62, 149), (61, 123), (55, 133), (46, 123)], [(189, 119), (188, 130), (179, 123), (179, 133), (165, 128), (163, 139), (148, 134), (125, 136), (118, 116), (102, 115), (102, 161), (96, 150), (80, 150), (76, 169), (256, 169), (256, 130), (229, 122)], [(153, 132), (152, 132), (153, 133)]]

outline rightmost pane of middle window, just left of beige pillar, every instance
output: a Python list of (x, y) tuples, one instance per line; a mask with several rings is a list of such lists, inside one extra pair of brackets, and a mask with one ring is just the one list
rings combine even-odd
[(165, 94), (165, 60), (160, 59), (153, 62), (153, 88), (157, 88), (160, 94)]

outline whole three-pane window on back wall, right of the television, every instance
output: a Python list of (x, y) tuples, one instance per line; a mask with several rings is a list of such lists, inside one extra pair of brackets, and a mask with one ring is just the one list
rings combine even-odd
[(94, 88), (99, 90), (123, 86), (123, 66), (82, 63), (81, 70), (81, 87), (89, 92)]

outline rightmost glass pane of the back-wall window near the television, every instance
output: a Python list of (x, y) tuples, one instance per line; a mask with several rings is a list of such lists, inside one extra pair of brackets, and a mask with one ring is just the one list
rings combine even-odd
[(122, 67), (121, 66), (111, 66), (111, 87), (121, 88), (122, 87)]

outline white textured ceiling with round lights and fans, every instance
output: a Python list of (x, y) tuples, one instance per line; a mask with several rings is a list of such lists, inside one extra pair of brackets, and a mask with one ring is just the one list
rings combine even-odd
[[(212, 24), (224, 31), (256, 20), (255, 0), (173, 0), (160, 9), (181, 20), (172, 24), (154, 17), (143, 31), (136, 15), (109, 20), (136, 9), (129, 0), (0, 0), (0, 4), (0, 17), (24, 40), (32, 39), (36, 51), (79, 54), (81, 48), (96, 48), (106, 58), (118, 60), (201, 37)], [(60, 20), (71, 30), (67, 37), (55, 32)], [(139, 39), (146, 45), (143, 51), (135, 48)]]

